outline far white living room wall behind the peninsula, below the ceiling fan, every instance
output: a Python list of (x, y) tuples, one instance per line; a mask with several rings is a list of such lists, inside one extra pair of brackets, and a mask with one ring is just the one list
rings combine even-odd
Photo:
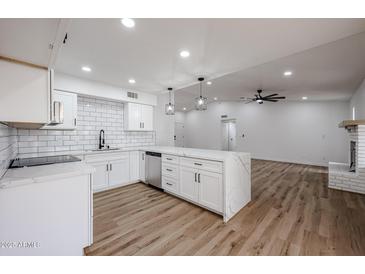
[[(253, 158), (327, 165), (348, 161), (348, 102), (213, 103), (186, 113), (186, 146), (221, 149), (221, 115), (237, 119), (237, 151)], [(245, 137), (242, 138), (242, 134)]]

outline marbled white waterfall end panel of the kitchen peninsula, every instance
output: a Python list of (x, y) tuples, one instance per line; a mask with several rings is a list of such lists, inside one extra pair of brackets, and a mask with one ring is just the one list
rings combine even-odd
[(224, 222), (251, 201), (251, 157), (234, 153), (225, 161)]

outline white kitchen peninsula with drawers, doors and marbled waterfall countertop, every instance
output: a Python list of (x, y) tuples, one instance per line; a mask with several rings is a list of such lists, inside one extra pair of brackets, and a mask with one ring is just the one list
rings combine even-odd
[(162, 154), (162, 188), (228, 222), (251, 201), (249, 153), (181, 147), (140, 148)]

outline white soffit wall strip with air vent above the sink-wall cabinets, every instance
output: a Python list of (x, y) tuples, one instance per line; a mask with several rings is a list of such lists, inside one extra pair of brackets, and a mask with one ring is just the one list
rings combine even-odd
[(55, 73), (54, 88), (82, 95), (95, 96), (99, 98), (112, 99), (123, 102), (134, 102), (152, 106), (155, 106), (157, 104), (157, 96), (154, 94), (138, 91), (138, 99), (131, 99), (127, 97), (127, 92), (133, 90), (126, 90), (117, 86), (107, 85), (97, 81), (81, 79), (60, 72)]

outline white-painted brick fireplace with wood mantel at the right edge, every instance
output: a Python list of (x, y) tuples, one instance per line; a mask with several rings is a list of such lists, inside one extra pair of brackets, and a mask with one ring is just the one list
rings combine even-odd
[(349, 163), (329, 163), (328, 187), (365, 194), (365, 120), (339, 126), (349, 132)]

